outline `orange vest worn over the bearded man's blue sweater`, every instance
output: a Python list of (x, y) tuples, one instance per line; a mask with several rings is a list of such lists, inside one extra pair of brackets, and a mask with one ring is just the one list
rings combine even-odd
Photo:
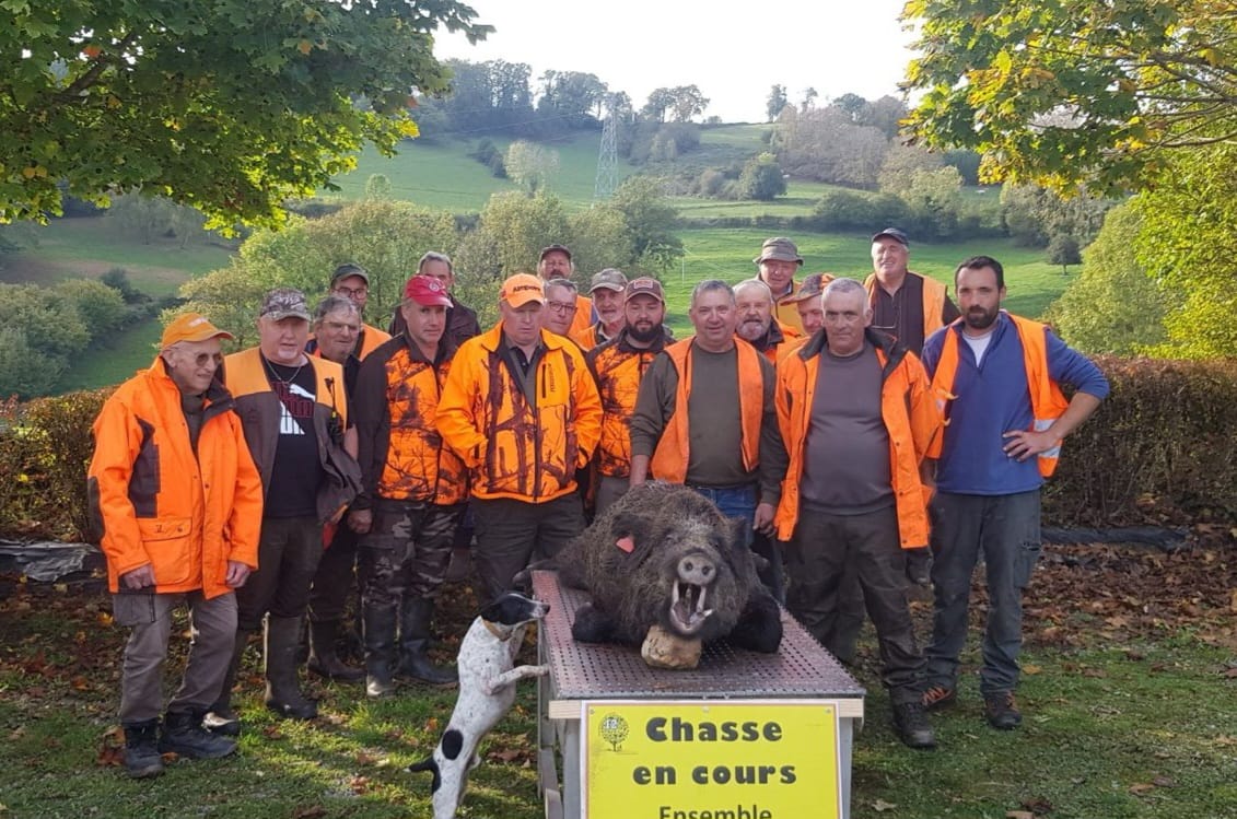
[[(1030, 414), (1035, 432), (1043, 432), (1051, 427), (1058, 418), (1070, 406), (1065, 400), (1061, 388), (1048, 375), (1048, 339), (1045, 337), (1047, 325), (1039, 322), (1014, 315), (1001, 311), (1013, 322), (1018, 332), (1018, 341), (1022, 343), (1022, 358), (1027, 366), (1027, 390), (1030, 392)], [(962, 319), (957, 319), (957, 324)], [(950, 325), (952, 327), (952, 325)], [(936, 362), (936, 374), (931, 380), (933, 393), (936, 396), (938, 406), (944, 416), (945, 406), (957, 396), (954, 395), (954, 379), (957, 375), (957, 333), (952, 329), (945, 333), (945, 343), (940, 350), (940, 361)], [(945, 426), (949, 421), (945, 421)], [(938, 435), (933, 443), (930, 457), (939, 458), (941, 449), (941, 437)], [(1061, 457), (1061, 442), (1051, 449), (1039, 453), (1039, 474), (1050, 478), (1056, 470), (1056, 461)]]

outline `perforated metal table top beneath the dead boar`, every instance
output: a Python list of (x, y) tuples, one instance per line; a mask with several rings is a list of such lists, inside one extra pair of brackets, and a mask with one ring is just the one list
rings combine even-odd
[(541, 638), (555, 699), (833, 699), (865, 694), (784, 609), (782, 646), (776, 654), (713, 643), (695, 669), (668, 671), (648, 667), (638, 647), (576, 642), (571, 622), (589, 595), (560, 586), (555, 573), (534, 572), (533, 594), (550, 604)]

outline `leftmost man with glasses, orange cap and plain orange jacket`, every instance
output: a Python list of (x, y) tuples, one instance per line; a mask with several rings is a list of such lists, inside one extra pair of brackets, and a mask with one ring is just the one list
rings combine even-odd
[[(132, 628), (120, 682), (125, 768), (163, 771), (161, 752), (215, 758), (236, 744), (204, 730), (236, 637), (234, 590), (257, 568), (262, 481), (224, 388), (220, 330), (197, 313), (167, 325), (148, 370), (94, 422), (90, 512), (101, 530), (113, 612)], [(172, 612), (189, 607), (189, 657), (163, 718)]]

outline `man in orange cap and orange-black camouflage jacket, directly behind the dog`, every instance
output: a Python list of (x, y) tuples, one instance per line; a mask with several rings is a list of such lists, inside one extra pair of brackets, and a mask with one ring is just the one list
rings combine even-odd
[(499, 324), (455, 354), (437, 418), (470, 470), (485, 600), (533, 554), (553, 557), (584, 530), (575, 471), (601, 437), (601, 398), (579, 346), (541, 327), (542, 281), (517, 273), (499, 299)]

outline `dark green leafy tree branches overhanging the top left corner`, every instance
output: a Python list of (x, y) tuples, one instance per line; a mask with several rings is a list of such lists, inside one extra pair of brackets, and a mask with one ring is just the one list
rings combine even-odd
[[(447, 89), (432, 33), (491, 31), (455, 0), (98, 0), (0, 5), (0, 219), (141, 189), (212, 226), (277, 224)], [(19, 57), (20, 56), (20, 57)]]

